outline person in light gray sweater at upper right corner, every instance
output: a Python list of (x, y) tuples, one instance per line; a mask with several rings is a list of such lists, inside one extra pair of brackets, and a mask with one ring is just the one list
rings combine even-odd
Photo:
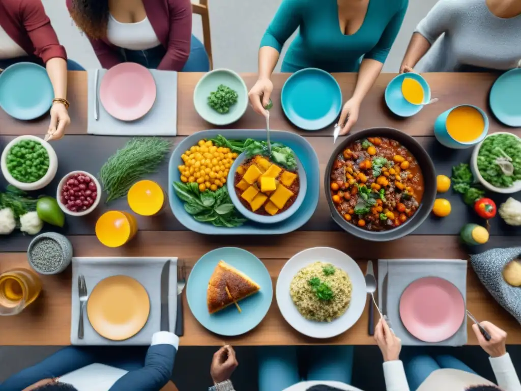
[(400, 73), (415, 67), (418, 72), (515, 68), (521, 63), (519, 42), (521, 1), (439, 0), (419, 22)]

